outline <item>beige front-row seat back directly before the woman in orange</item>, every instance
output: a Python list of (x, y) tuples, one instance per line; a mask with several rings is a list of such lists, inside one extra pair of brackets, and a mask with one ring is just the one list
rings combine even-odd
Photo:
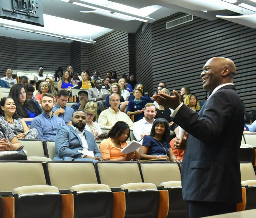
[(99, 183), (120, 187), (126, 183), (142, 182), (137, 162), (97, 162)]

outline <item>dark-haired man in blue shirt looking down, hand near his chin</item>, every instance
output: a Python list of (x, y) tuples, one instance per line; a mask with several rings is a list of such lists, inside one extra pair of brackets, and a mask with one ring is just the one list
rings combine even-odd
[(65, 121), (66, 125), (70, 122), (72, 114), (74, 113), (74, 109), (66, 105), (68, 101), (68, 97), (69, 97), (69, 94), (66, 90), (58, 91), (56, 104), (52, 109), (53, 114), (62, 118), (62, 120)]

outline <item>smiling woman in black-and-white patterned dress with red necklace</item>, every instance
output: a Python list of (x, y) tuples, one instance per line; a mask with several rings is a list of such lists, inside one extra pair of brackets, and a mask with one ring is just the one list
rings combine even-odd
[(18, 139), (38, 139), (36, 129), (29, 129), (25, 121), (16, 114), (16, 105), (11, 97), (4, 97), (0, 102), (0, 123), (9, 126)]

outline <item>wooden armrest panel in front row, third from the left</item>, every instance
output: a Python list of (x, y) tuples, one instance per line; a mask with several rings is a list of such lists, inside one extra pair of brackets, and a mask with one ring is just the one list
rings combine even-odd
[(126, 210), (125, 192), (113, 192), (112, 218), (124, 218)]

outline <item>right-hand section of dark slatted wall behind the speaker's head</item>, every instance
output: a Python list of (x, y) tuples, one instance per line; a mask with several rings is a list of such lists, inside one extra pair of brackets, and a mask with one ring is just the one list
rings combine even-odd
[[(206, 93), (200, 77), (202, 67), (211, 57), (227, 57), (236, 64), (234, 84), (247, 112), (251, 113), (256, 109), (256, 30), (222, 19), (210, 21), (199, 17), (166, 30), (167, 21), (183, 15), (177, 13), (148, 24), (151, 30), (140, 41), (136, 38), (137, 47), (143, 46), (150, 34), (152, 39), (152, 70), (141, 73), (139, 69), (147, 66), (148, 59), (140, 62), (136, 56), (137, 80), (147, 84), (146, 75), (150, 72), (153, 79), (150, 93), (155, 92), (160, 81), (165, 81), (169, 90), (179, 91), (183, 86), (190, 87), (191, 92), (202, 101)], [(138, 34), (141, 35), (140, 30)], [(143, 47), (145, 49), (146, 45)]]

